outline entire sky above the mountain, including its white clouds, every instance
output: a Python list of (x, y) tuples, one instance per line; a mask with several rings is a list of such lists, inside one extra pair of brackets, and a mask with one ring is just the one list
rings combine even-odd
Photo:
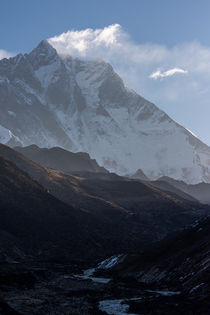
[(129, 87), (210, 145), (209, 0), (0, 4), (0, 58), (70, 30), (51, 40), (58, 50), (109, 61)]

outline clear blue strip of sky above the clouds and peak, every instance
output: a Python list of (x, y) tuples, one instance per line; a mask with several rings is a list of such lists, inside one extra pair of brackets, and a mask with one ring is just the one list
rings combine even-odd
[(1, 48), (30, 51), (69, 29), (118, 23), (139, 42), (210, 45), (208, 0), (1, 0)]

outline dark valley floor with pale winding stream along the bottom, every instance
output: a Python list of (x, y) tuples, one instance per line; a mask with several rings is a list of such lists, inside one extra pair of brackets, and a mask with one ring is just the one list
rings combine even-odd
[[(175, 288), (93, 276), (95, 268), (1, 264), (0, 314), (207, 314)], [(198, 311), (199, 310), (199, 311)]]

